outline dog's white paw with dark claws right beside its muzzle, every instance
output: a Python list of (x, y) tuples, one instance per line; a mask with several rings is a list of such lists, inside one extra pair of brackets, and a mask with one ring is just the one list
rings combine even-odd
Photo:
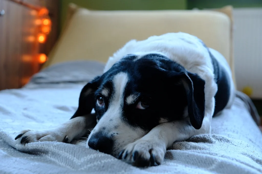
[(128, 144), (120, 152), (118, 159), (138, 167), (157, 166), (164, 160), (165, 153), (165, 143), (140, 139)]

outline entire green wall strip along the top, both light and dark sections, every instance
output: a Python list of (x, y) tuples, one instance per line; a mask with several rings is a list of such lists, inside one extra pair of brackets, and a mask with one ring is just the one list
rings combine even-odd
[(60, 29), (70, 2), (95, 10), (165, 10), (220, 8), (225, 5), (239, 7), (262, 7), (262, 0), (59, 0)]

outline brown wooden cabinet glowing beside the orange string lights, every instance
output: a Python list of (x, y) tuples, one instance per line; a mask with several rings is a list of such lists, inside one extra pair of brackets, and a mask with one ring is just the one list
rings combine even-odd
[(39, 71), (38, 53), (48, 54), (58, 37), (58, 0), (24, 0), (50, 11), (52, 29), (45, 44), (36, 42), (36, 13), (9, 0), (0, 0), (0, 90), (21, 88)]

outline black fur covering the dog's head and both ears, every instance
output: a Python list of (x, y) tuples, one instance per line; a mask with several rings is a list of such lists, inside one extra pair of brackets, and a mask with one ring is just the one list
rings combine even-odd
[[(181, 119), (184, 108), (189, 104), (190, 122), (199, 129), (205, 108), (204, 80), (160, 54), (148, 54), (137, 60), (136, 58), (137, 56), (132, 54), (126, 55), (101, 77), (88, 83), (80, 94), (79, 108), (73, 117), (80, 116), (79, 113), (88, 114), (91, 107), (94, 107), (97, 119), (101, 119), (108, 109), (110, 97), (116, 92), (112, 79), (116, 74), (124, 72), (129, 78), (124, 91), (124, 100), (129, 95), (139, 94), (134, 103), (129, 105), (123, 103), (122, 119), (129, 125), (149, 131), (160, 124), (159, 120), (163, 115), (170, 121)], [(192, 78), (194, 86), (186, 74)], [(182, 80), (189, 88), (185, 89)], [(108, 96), (103, 96), (104, 88), (109, 89)], [(91, 93), (86, 95), (85, 90)], [(101, 96), (105, 105), (98, 107), (96, 99)], [(139, 101), (146, 102), (149, 107), (137, 109)]]

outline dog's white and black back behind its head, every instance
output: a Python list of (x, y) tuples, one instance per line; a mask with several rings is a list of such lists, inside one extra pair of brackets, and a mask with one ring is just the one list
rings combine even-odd
[[(162, 54), (204, 79), (206, 102), (211, 102), (208, 98), (215, 96), (213, 115), (232, 105), (234, 83), (226, 59), (216, 50), (206, 47), (199, 38), (187, 33), (167, 33), (141, 41), (131, 40), (108, 59), (104, 72), (127, 54), (135, 54), (139, 59), (151, 53)], [(206, 73), (209, 73), (209, 78)]]

